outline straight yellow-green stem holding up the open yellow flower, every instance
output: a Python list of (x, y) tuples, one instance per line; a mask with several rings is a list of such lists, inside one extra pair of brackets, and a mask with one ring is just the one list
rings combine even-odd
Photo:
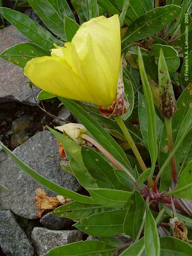
[(129, 133), (127, 127), (125, 126), (125, 123), (123, 122), (123, 120), (121, 119), (120, 116), (115, 117), (115, 119), (116, 119), (116, 122), (118, 123), (119, 127), (121, 128), (123, 134), (125, 135), (125, 138), (127, 139), (131, 149), (133, 150), (135, 157), (137, 158), (137, 161), (141, 166), (142, 171), (145, 172), (147, 167), (145, 166), (143, 158), (141, 157), (140, 152), (137, 149), (137, 147), (131, 137), (131, 134)]

